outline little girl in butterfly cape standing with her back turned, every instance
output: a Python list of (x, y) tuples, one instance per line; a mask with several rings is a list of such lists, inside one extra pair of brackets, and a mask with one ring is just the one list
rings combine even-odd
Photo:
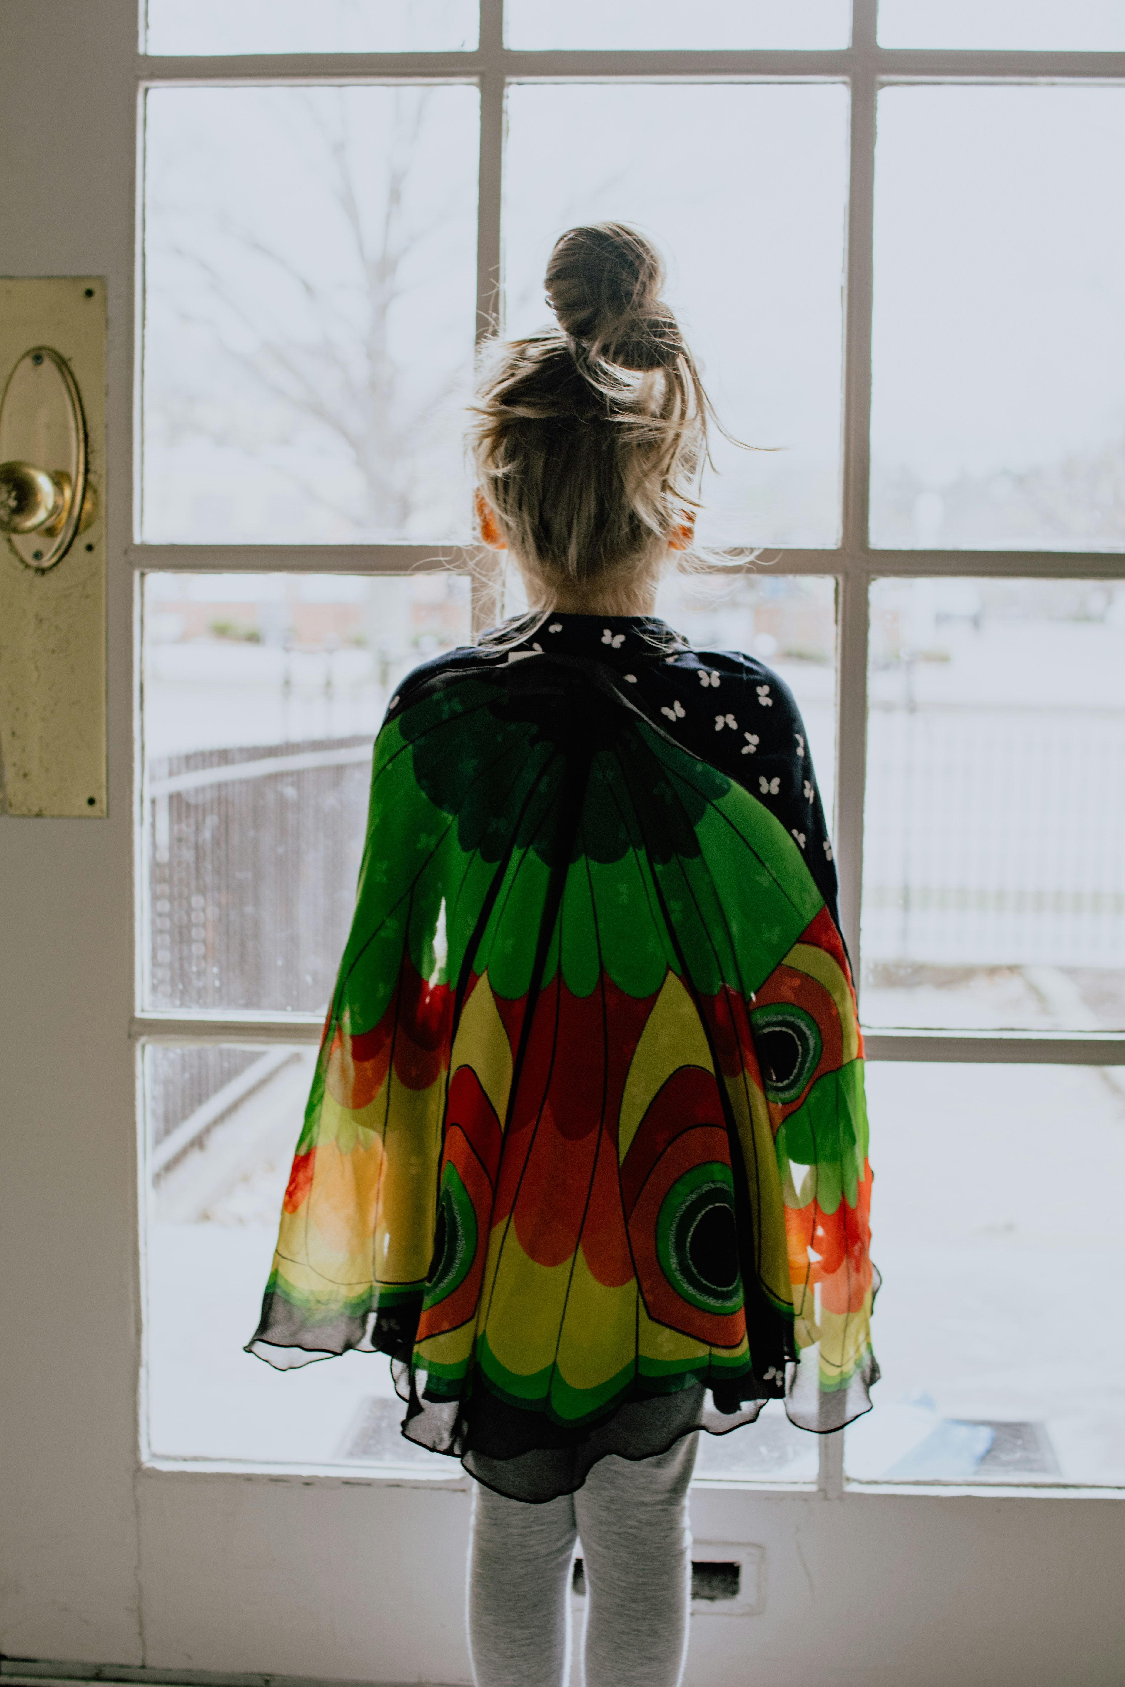
[(390, 1353), (476, 1478), (479, 1687), (675, 1687), (697, 1431), (869, 1409), (862, 1043), (805, 725), (653, 619), (708, 402), (653, 248), (563, 234), (477, 518), (531, 612), (417, 668), (250, 1351)]

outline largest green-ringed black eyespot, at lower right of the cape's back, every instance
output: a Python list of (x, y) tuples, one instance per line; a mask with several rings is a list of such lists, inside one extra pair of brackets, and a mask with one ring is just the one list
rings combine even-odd
[(676, 1294), (702, 1312), (742, 1306), (734, 1178), (719, 1161), (676, 1178), (659, 1203), (656, 1259)]

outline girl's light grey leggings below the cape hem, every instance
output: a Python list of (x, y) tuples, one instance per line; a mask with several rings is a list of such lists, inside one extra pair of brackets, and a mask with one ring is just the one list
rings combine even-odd
[(546, 1505), (477, 1485), (469, 1650), (477, 1687), (567, 1687), (570, 1566), (582, 1540), (585, 1687), (678, 1687), (688, 1643), (686, 1496), (697, 1436), (636, 1463), (600, 1459)]

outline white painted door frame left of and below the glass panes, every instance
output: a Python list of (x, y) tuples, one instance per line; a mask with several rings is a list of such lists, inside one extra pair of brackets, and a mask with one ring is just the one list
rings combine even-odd
[[(0, 818), (0, 1652), (462, 1682), (466, 1488), (142, 1469), (130, 889), (133, 0), (0, 8), (0, 272), (110, 283), (110, 818)], [(702, 1488), (766, 1549), (692, 1687), (1120, 1687), (1115, 1496)]]

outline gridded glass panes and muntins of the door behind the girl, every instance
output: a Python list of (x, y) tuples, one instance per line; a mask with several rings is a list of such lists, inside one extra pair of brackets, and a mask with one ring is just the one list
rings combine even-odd
[[(1071, 1095), (1106, 1189), (1120, 1157), (1125, 342), (1093, 160), (1122, 155), (1125, 96), (1027, 84), (1031, 25), (999, 15), (1015, 57), (968, 86), (907, 10), (887, 39), (918, 34), (924, 86), (864, 7), (848, 47), (828, 3), (784, 24), (715, 3), (690, 27), (626, 5), (609, 34), (533, 0), (425, 24), (341, 5), (309, 57), (297, 10), (233, 24), (150, 0), (133, 558), (155, 1456), (440, 1468), (400, 1441), (381, 1363), (282, 1385), (240, 1334), (347, 926), (371, 737), (398, 678), (503, 604), (469, 545), (474, 337), (540, 326), (557, 233), (622, 218), (668, 251), (719, 413), (759, 447), (720, 439), (700, 536), (730, 562), (670, 579), (661, 611), (793, 685), (862, 951), (887, 1358), (848, 1471), (1125, 1479), (1096, 1309), (1085, 1404), (1058, 1361), (1029, 1368), (1024, 1329), (1061, 1319), (1076, 1248), (1098, 1279), (1123, 1245), (1100, 1196), (1042, 1169)], [(977, 46), (956, 29), (946, 46)], [(238, 57), (251, 40), (268, 71)], [(1046, 46), (1076, 67), (1069, 37)], [(912, 1112), (904, 1059), (934, 1073)], [(980, 1161), (960, 1228), (916, 1221), (938, 1134), (961, 1176)], [(700, 1471), (845, 1479), (838, 1437), (818, 1447), (779, 1409)]]

